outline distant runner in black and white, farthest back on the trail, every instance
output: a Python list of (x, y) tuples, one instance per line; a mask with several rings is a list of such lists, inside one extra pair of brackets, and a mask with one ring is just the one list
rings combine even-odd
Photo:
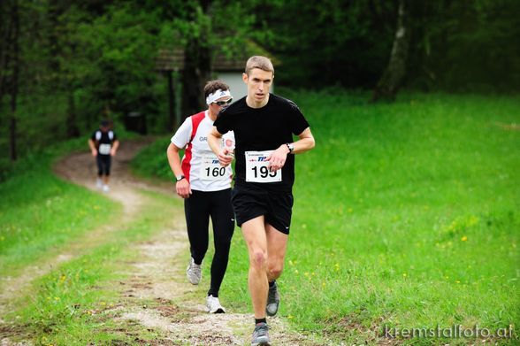
[(119, 140), (116, 133), (111, 129), (111, 121), (102, 120), (99, 129), (88, 139), (88, 146), (92, 156), (96, 157), (97, 164), (97, 188), (103, 192), (109, 192), (109, 181), (111, 176), (111, 157), (116, 156), (119, 148)]

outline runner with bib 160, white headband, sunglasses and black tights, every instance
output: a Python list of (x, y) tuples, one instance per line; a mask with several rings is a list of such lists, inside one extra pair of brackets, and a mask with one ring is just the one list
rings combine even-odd
[[(201, 265), (208, 250), (209, 222), (213, 224), (215, 255), (211, 261), (211, 282), (206, 306), (210, 313), (226, 312), (218, 300), (218, 291), (226, 273), (229, 248), (234, 231), (231, 206), (231, 167), (222, 167), (208, 146), (207, 135), (213, 128), (218, 112), (233, 101), (229, 87), (223, 81), (208, 81), (204, 86), (208, 109), (192, 115), (173, 135), (166, 150), (170, 167), (175, 174), (175, 189), (184, 198), (187, 236), (191, 259), (187, 279), (194, 285), (201, 281)], [(230, 132), (218, 146), (232, 153), (234, 136)], [(179, 150), (186, 148), (182, 163)]]

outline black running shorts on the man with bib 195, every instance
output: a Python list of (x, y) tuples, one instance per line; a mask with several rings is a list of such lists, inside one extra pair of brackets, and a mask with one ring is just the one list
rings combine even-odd
[(231, 203), (239, 227), (250, 219), (264, 215), (265, 222), (288, 235), (294, 204), (291, 192), (273, 192), (255, 186), (235, 186)]

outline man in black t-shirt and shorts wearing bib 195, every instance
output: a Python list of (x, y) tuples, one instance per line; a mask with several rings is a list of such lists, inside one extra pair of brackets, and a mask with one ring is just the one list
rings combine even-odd
[[(279, 278), (286, 256), (293, 207), (294, 154), (314, 148), (314, 137), (296, 104), (269, 93), (271, 60), (251, 57), (242, 74), (248, 95), (218, 115), (208, 135), (221, 165), (233, 157), (219, 145), (233, 131), (236, 139), (232, 193), (237, 225), (249, 251), (249, 293), (255, 311), (252, 345), (269, 344), (265, 314), (279, 309)], [(293, 142), (293, 135), (299, 140)]]

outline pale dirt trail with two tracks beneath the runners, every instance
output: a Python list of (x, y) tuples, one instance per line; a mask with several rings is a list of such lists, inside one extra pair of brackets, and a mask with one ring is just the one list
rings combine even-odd
[[(134, 154), (147, 142), (124, 142), (118, 155), (113, 159), (111, 191), (106, 196), (123, 205), (123, 215), (117, 225), (101, 227), (89, 232), (84, 239), (76, 240), (80, 246), (71, 245), (66, 251), (45, 263), (30, 266), (24, 273), (15, 278), (4, 278), (0, 287), (0, 315), (4, 311), (10, 311), (13, 306), (10, 302), (20, 293), (27, 293), (27, 288), (34, 278), (50, 272), (65, 261), (80, 256), (88, 249), (103, 243), (101, 235), (116, 231), (132, 222), (135, 215), (147, 203), (147, 197), (140, 190), (157, 191), (169, 194), (173, 193), (173, 186), (168, 184), (150, 184), (136, 179), (128, 173), (128, 162)], [(56, 167), (57, 175), (76, 184), (92, 190), (96, 188), (96, 166), (89, 153), (76, 153), (60, 160)], [(100, 192), (101, 193), (101, 192)], [(172, 205), (165, 205), (165, 210)], [(158, 232), (147, 242), (134, 244), (134, 250), (140, 256), (138, 262), (126, 265), (128, 279), (121, 281), (121, 303), (109, 313), (113, 319), (143, 328), (153, 329), (161, 335), (153, 344), (167, 345), (244, 345), (249, 344), (251, 334), (252, 314), (240, 314), (228, 311), (226, 314), (209, 314), (205, 311), (204, 296), (197, 294), (197, 300), (193, 301), (194, 291), (197, 288), (187, 282), (185, 276), (186, 264), (182, 259), (187, 258), (187, 235), (182, 211), (177, 211), (177, 219), (172, 229), (164, 229)], [(239, 234), (240, 236), (240, 234)], [(207, 259), (207, 263), (210, 259)], [(208, 278), (203, 278), (203, 284), (207, 284)], [(244, 285), (246, 284), (244, 278)], [(200, 292), (199, 292), (200, 293)], [(143, 302), (154, 302), (147, 306)], [(153, 305), (153, 306), (151, 306)], [(0, 319), (0, 325), (2, 325)], [(288, 333), (284, 319), (270, 319), (271, 339), (276, 345), (317, 345), (310, 338), (294, 333)], [(123, 330), (125, 330), (123, 328)], [(314, 338), (312, 338), (314, 339)], [(138, 342), (139, 343), (139, 342)], [(0, 344), (10, 344), (7, 338), (0, 340)]]

